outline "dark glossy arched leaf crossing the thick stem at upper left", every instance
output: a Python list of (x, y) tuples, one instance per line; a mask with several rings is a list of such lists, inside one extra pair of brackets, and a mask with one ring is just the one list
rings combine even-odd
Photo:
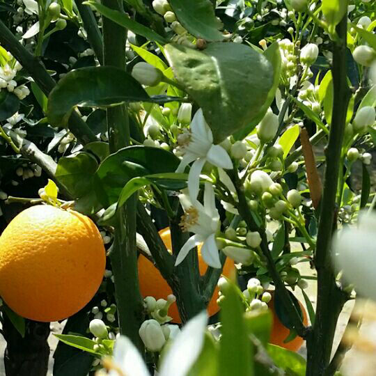
[(173, 97), (149, 97), (139, 81), (124, 70), (88, 67), (70, 71), (49, 94), (47, 118), (65, 126), (75, 107), (109, 107), (124, 102), (168, 102)]

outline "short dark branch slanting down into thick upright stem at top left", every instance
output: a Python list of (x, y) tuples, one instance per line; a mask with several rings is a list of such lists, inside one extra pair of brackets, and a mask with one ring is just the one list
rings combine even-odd
[(94, 50), (100, 65), (103, 65), (103, 39), (93, 10), (91, 10), (89, 6), (83, 5), (82, 0), (76, 0), (76, 5), (79, 10), (79, 15), (81, 15), (84, 29), (88, 35), (88, 42)]

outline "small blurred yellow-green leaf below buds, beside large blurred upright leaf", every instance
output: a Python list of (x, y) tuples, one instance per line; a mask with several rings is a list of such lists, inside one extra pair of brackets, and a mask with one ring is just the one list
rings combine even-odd
[(273, 316), (270, 310), (246, 312), (244, 320), (248, 332), (258, 338), (263, 346), (266, 346), (270, 340), (273, 324)]

